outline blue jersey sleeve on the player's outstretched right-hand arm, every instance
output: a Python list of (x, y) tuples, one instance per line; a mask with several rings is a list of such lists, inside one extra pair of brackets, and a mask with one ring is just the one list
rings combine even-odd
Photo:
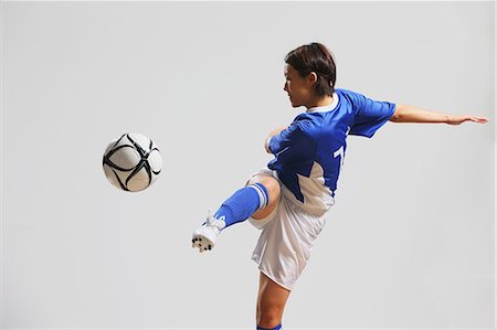
[(350, 99), (355, 113), (355, 123), (350, 129), (350, 135), (371, 138), (395, 111), (395, 104), (372, 100), (359, 93), (351, 92)]

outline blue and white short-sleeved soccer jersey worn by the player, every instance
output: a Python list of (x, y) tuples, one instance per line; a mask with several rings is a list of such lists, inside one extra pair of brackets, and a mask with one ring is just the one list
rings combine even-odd
[(330, 106), (308, 109), (271, 138), (275, 158), (267, 167), (307, 209), (328, 210), (335, 203), (347, 136), (371, 138), (394, 111), (393, 103), (337, 88)]

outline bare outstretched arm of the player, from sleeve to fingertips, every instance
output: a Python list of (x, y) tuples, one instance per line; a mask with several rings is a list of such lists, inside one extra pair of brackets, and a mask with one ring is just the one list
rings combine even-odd
[(390, 121), (393, 123), (444, 123), (450, 125), (459, 125), (464, 121), (475, 121), (479, 124), (485, 124), (488, 121), (485, 117), (476, 116), (454, 116), (448, 114), (441, 114), (435, 111), (430, 111), (421, 109), (414, 106), (398, 105), (395, 113), (393, 114)]

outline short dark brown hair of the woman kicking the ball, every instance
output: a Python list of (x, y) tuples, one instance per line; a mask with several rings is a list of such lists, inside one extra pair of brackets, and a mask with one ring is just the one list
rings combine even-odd
[(317, 42), (302, 45), (285, 56), (285, 63), (292, 65), (302, 77), (311, 72), (316, 73), (317, 96), (334, 95), (337, 68), (330, 51), (325, 45)]

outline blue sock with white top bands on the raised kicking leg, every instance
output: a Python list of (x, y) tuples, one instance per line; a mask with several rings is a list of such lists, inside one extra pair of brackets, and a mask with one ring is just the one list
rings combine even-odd
[(248, 219), (255, 211), (267, 205), (269, 196), (261, 183), (248, 184), (233, 193), (214, 213), (214, 217), (223, 220), (226, 227)]

